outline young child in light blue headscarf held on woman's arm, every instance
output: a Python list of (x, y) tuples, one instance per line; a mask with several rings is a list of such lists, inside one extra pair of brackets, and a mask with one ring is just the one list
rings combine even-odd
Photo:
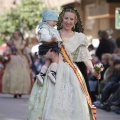
[[(57, 44), (62, 42), (58, 31), (54, 28), (57, 21), (58, 16), (53, 10), (45, 10), (42, 13), (43, 20), (38, 26), (38, 36), (39, 42), (44, 44), (50, 44), (52, 42), (56, 42)], [(46, 46), (47, 47), (47, 46)], [(57, 48), (59, 49), (59, 47)], [(39, 47), (39, 55), (44, 53), (45, 48)], [(46, 52), (45, 52), (46, 53)], [(58, 54), (57, 54), (57, 56)], [(40, 81), (40, 84), (43, 85), (44, 77), (46, 75), (47, 69), (51, 64), (51, 71), (48, 73), (50, 80), (55, 84), (56, 82), (56, 71), (57, 71), (57, 59), (54, 58), (52, 60), (46, 59), (45, 64), (42, 66), (41, 71), (38, 75), (36, 75), (36, 79)]]

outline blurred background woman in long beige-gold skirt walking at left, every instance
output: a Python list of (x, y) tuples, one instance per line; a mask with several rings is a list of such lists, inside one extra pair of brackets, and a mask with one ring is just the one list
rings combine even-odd
[(12, 39), (7, 43), (5, 54), (10, 56), (10, 61), (5, 65), (2, 78), (2, 93), (12, 94), (14, 98), (30, 93), (30, 66), (26, 59), (28, 53), (25, 46), (20, 31), (15, 30)]

